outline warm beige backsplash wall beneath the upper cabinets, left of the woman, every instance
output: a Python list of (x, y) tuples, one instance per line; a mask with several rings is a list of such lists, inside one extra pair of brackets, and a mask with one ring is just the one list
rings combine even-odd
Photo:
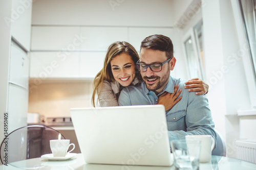
[(70, 117), (70, 108), (92, 107), (92, 81), (42, 83), (31, 87), (28, 112), (45, 117)]

